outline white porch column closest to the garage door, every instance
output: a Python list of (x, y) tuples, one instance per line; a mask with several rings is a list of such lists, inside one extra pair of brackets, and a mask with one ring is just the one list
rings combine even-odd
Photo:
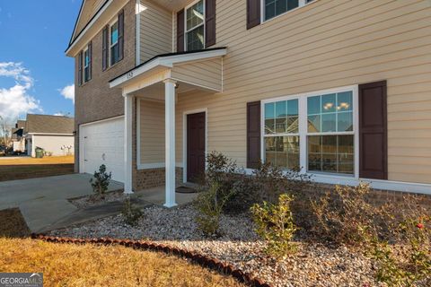
[(132, 123), (133, 96), (124, 95), (124, 193), (133, 194), (132, 189)]

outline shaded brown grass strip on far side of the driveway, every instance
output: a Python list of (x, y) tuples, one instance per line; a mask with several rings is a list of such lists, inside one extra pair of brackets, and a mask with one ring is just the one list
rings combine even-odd
[(74, 164), (0, 165), (0, 181), (46, 178), (74, 173)]

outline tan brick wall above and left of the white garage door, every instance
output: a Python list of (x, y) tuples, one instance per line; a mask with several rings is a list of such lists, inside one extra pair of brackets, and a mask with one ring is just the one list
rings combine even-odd
[(79, 126), (124, 115), (121, 89), (110, 89), (109, 81), (136, 65), (135, 1), (124, 6), (124, 58), (101, 70), (101, 30), (92, 39), (92, 80), (78, 86), (78, 56), (75, 57), (75, 171), (79, 170)]

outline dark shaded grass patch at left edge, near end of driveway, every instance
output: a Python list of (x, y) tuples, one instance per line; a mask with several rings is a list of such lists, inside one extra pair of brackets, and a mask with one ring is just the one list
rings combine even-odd
[(30, 233), (19, 208), (0, 210), (0, 237), (23, 238)]

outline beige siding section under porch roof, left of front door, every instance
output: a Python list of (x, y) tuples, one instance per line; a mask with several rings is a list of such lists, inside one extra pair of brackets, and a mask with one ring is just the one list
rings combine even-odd
[(164, 103), (140, 100), (141, 163), (164, 162)]

